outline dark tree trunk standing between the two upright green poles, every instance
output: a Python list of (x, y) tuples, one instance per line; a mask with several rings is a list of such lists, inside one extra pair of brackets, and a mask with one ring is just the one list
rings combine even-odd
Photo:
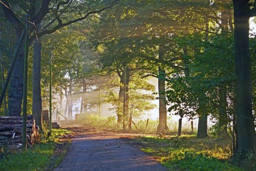
[[(37, 25), (37, 30), (40, 29), (40, 23)], [(34, 56), (33, 56), (33, 106), (32, 113), (35, 118), (35, 124), (39, 130), (42, 130), (42, 97), (41, 97), (41, 39), (34, 41)]]

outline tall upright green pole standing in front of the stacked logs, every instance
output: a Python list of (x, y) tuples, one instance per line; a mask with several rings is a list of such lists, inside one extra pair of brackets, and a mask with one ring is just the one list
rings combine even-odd
[[(27, 19), (29, 15), (26, 16)], [(24, 57), (24, 83), (23, 83), (23, 132), (22, 146), (27, 148), (27, 101), (28, 101), (28, 57), (29, 57), (29, 22), (26, 20), (25, 57)]]

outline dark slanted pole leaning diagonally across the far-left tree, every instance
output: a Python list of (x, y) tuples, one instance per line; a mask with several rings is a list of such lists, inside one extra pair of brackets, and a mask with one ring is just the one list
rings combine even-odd
[(25, 37), (25, 32), (26, 31), (23, 30), (22, 35), (19, 38), (19, 41), (18, 41), (18, 44), (17, 44), (17, 47), (16, 47), (16, 51), (15, 51), (15, 54), (14, 54), (14, 57), (13, 57), (13, 60), (12, 60), (12, 64), (11, 64), (10, 70), (7, 74), (5, 85), (4, 85), (4, 87), (2, 89), (2, 92), (1, 92), (0, 107), (2, 106), (4, 97), (5, 97), (5, 93), (6, 93), (6, 90), (7, 90), (7, 87), (8, 87), (8, 84), (10, 82), (10, 78), (11, 78), (11, 75), (12, 75), (12, 72), (13, 72), (13, 68), (15, 66), (15, 63), (16, 63), (16, 60), (17, 60), (17, 57), (18, 57), (18, 54), (19, 54), (20, 47), (22, 46), (22, 42), (23, 42), (24, 37)]

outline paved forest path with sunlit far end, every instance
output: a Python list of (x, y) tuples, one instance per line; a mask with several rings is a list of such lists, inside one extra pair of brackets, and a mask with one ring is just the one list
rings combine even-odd
[[(72, 129), (73, 130), (73, 129)], [(138, 134), (77, 131), (62, 163), (54, 171), (164, 171), (153, 157), (127, 144), (122, 138)]]

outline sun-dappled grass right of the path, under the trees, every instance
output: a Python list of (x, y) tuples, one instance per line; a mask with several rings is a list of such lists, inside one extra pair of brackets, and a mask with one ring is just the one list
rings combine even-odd
[(167, 170), (243, 170), (230, 163), (231, 149), (228, 141), (183, 135), (142, 136), (132, 143), (139, 144), (142, 151), (155, 157)]

